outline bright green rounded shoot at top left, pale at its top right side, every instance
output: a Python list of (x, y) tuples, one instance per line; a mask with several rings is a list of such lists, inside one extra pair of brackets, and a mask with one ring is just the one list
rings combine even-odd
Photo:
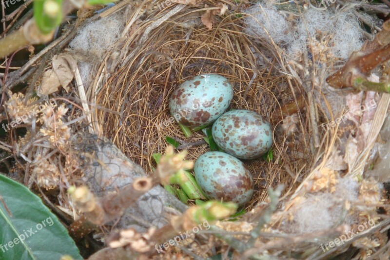
[(34, 0), (34, 19), (41, 33), (48, 34), (62, 21), (62, 0)]

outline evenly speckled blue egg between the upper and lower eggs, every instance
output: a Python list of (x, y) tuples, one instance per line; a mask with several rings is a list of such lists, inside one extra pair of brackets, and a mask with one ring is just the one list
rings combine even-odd
[(240, 159), (265, 154), (273, 144), (271, 124), (248, 110), (232, 110), (213, 124), (213, 138), (225, 152)]

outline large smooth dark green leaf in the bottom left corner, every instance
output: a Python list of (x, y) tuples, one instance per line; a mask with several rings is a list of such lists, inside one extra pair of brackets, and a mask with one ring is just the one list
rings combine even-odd
[(0, 175), (0, 259), (82, 259), (75, 242), (37, 195)]

